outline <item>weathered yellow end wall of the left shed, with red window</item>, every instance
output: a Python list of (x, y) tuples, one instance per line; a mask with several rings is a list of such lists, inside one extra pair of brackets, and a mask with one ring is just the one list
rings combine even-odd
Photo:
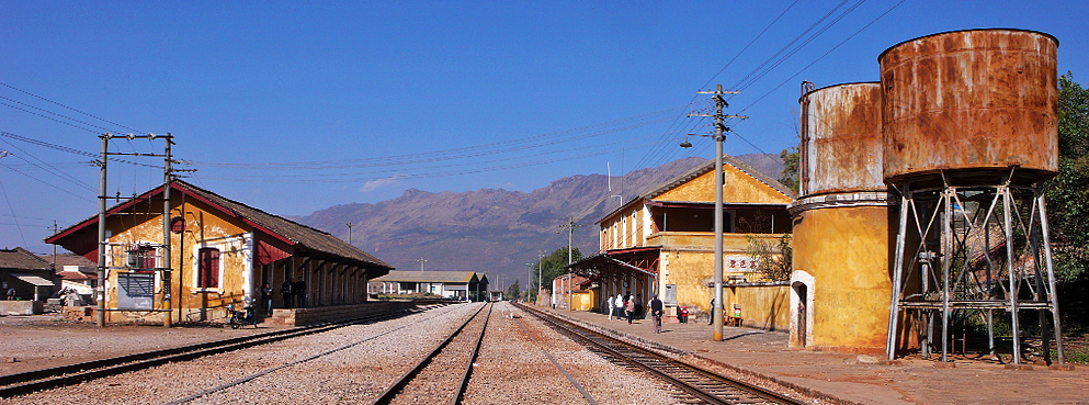
[[(181, 235), (170, 234), (170, 267), (171, 272), (171, 308), (174, 320), (212, 320), (223, 318), (226, 314), (224, 306), (230, 303), (241, 303), (245, 294), (245, 274), (251, 252), (245, 249), (241, 236), (249, 230), (236, 220), (219, 216), (217, 211), (209, 211), (204, 204), (186, 201), (183, 206), (180, 198), (175, 196), (171, 217), (181, 216), (184, 212), (185, 232)], [(160, 204), (137, 204), (135, 210), (126, 212), (148, 212)], [(135, 216), (117, 215), (106, 222), (106, 227), (113, 233), (111, 243), (162, 243), (162, 215)], [(184, 241), (180, 236), (184, 236)], [(251, 237), (251, 236), (250, 236)], [(196, 247), (209, 245), (220, 250), (219, 272), (223, 283), (217, 289), (197, 289), (195, 284)], [(107, 262), (118, 263), (124, 260), (121, 248), (107, 250)], [(116, 266), (116, 265), (114, 265)], [(257, 288), (257, 286), (254, 286)], [(111, 271), (106, 290), (110, 307), (116, 307), (117, 271)], [(156, 285), (155, 307), (159, 308), (161, 284)], [(182, 318), (178, 319), (179, 311)], [(162, 322), (162, 313), (145, 312), (113, 312), (109, 313), (111, 322)]]

